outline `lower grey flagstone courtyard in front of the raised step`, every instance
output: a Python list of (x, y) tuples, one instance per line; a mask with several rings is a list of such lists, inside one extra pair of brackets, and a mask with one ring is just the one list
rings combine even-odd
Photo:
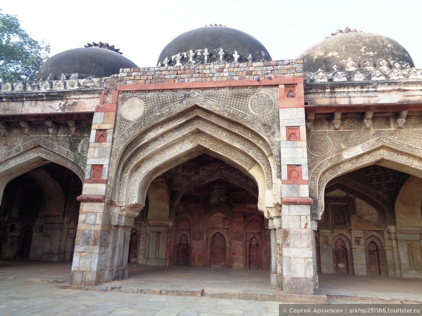
[(278, 302), (57, 289), (51, 284), (0, 281), (7, 316), (278, 315)]

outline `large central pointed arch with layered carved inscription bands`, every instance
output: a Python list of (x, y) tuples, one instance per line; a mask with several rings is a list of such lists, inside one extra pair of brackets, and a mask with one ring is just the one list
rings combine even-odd
[[(279, 169), (279, 150), (274, 148), (274, 144), (279, 146), (276, 137), (253, 118), (239, 121), (233, 118), (233, 113), (219, 113), (219, 108), (207, 100), (198, 96), (194, 99), (195, 103), (171, 115), (170, 110), (159, 110), (153, 114), (154, 120), (146, 117), (134, 120), (115, 136), (109, 177), (117, 181), (114, 186), (113, 181), (108, 182), (107, 199), (119, 206), (143, 205), (146, 189), (155, 177), (207, 153), (256, 181), (259, 209), (267, 212), (266, 206), (274, 207), (277, 203), (274, 200), (277, 195), (272, 193)], [(239, 110), (233, 111), (239, 112), (237, 116), (248, 117)]]

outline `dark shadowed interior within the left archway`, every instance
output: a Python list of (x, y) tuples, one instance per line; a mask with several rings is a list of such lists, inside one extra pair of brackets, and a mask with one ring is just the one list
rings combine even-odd
[(54, 163), (9, 181), (0, 206), (0, 257), (71, 260), (81, 190), (80, 178)]

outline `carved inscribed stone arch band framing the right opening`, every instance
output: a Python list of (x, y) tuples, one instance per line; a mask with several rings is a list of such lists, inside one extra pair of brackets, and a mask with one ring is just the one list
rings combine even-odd
[[(400, 142), (396, 143), (397, 148), (378, 145), (365, 152), (362, 152), (364, 145), (359, 145), (335, 157), (327, 158), (315, 166), (309, 176), (310, 197), (314, 200), (311, 206), (311, 218), (321, 219), (321, 214), (324, 211), (324, 191), (326, 184), (330, 180), (345, 173), (366, 166), (379, 165), (422, 178), (422, 159), (415, 155), (420, 149), (404, 145)], [(355, 152), (357, 154), (354, 154)]]

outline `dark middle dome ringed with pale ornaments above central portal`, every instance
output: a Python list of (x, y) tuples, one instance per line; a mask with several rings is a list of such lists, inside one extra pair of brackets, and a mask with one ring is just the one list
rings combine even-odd
[[(271, 60), (267, 49), (253, 36), (223, 26), (209, 26), (187, 31), (167, 44), (162, 50), (158, 63), (163, 62), (166, 57), (171, 58), (177, 54), (185, 53), (185, 62), (190, 50), (193, 50), (195, 63), (219, 62), (219, 50), (223, 49), (226, 56), (223, 62), (234, 61), (233, 54), (237, 52), (238, 61), (249, 60)], [(204, 51), (208, 50), (209, 58), (204, 60)], [(198, 50), (201, 54), (197, 54)], [(236, 54), (235, 54), (236, 55)], [(199, 57), (198, 57), (199, 56)], [(201, 59), (202, 57), (202, 59)], [(183, 56), (182, 56), (183, 59)], [(174, 62), (176, 62), (174, 60)], [(170, 62), (169, 62), (170, 63)]]

